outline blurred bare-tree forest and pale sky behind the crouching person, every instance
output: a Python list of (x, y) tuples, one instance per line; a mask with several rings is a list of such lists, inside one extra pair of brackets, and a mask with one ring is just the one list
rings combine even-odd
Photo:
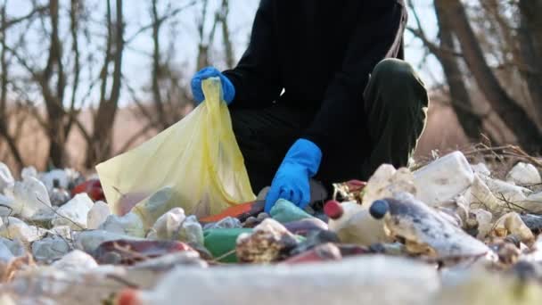
[[(0, 161), (92, 169), (193, 109), (234, 66), (259, 0), (0, 0)], [(409, 0), (406, 60), (431, 89), (418, 154), (542, 151), (542, 0)]]

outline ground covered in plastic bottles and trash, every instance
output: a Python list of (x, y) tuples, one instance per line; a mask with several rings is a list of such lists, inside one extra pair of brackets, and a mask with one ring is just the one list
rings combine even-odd
[(168, 188), (114, 215), (98, 177), (14, 179), (0, 163), (0, 303), (535, 304), (540, 169), (517, 147), (479, 145), (382, 165), (306, 210), (197, 218)]

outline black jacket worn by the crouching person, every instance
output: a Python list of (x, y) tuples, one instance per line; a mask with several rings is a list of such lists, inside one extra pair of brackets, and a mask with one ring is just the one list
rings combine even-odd
[(247, 51), (225, 71), (234, 104), (306, 109), (314, 120), (302, 137), (325, 154), (363, 120), (374, 66), (403, 57), (405, 26), (403, 0), (261, 0)]

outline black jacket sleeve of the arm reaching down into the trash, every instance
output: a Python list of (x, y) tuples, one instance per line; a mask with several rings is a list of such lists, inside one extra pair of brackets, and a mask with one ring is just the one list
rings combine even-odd
[[(375, 2), (378, 3), (378, 2)], [(305, 130), (305, 139), (315, 143), (325, 155), (338, 138), (361, 121), (363, 92), (378, 62), (397, 56), (406, 22), (406, 11), (397, 1), (375, 4), (368, 20), (361, 20), (350, 38), (341, 70), (333, 76), (316, 117)]]

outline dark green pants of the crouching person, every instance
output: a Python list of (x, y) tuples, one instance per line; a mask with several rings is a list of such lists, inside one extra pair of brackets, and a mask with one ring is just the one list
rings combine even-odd
[[(331, 184), (368, 179), (383, 163), (406, 166), (425, 127), (427, 91), (412, 66), (387, 59), (376, 65), (363, 102), (365, 113), (349, 143), (324, 154), (316, 179)], [(232, 123), (254, 192), (271, 184), (283, 157), (314, 118), (313, 111), (281, 103), (262, 109), (231, 107)]]

